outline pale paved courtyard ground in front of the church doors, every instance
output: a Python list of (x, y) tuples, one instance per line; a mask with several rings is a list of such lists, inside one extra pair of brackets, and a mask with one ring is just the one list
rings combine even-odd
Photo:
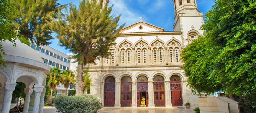
[[(44, 113), (56, 113), (55, 107), (44, 107)], [(193, 109), (163, 109), (163, 108), (155, 108), (155, 109), (148, 109), (148, 108), (138, 108), (138, 109), (111, 109), (111, 108), (103, 108), (100, 109), (99, 113), (195, 113)]]

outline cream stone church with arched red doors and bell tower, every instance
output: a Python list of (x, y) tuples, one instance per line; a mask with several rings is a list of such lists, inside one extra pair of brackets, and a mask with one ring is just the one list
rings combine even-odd
[[(199, 94), (186, 87), (180, 52), (203, 31), (203, 14), (196, 0), (172, 0), (175, 11), (174, 31), (139, 22), (123, 28), (108, 58), (89, 66), (90, 94), (103, 106), (140, 107), (145, 96), (147, 107), (172, 108), (190, 102), (199, 106)], [(108, 0), (104, 0), (108, 3)], [(86, 68), (86, 67), (84, 67)], [(207, 94), (201, 94), (201, 97)]]

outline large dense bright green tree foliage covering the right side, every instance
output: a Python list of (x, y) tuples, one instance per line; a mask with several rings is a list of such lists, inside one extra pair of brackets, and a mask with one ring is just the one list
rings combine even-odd
[(204, 36), (181, 57), (193, 93), (256, 92), (256, 1), (215, 0), (201, 27)]

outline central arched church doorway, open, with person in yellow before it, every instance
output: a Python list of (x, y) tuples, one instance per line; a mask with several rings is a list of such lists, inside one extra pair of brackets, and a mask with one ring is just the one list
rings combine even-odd
[(145, 96), (146, 106), (148, 106), (148, 78), (146, 76), (139, 76), (137, 78), (137, 105), (140, 106), (142, 96)]

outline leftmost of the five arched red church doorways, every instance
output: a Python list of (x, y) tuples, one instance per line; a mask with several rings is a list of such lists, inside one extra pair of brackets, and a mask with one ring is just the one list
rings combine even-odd
[(108, 76), (105, 79), (104, 106), (115, 106), (115, 82), (116, 80), (113, 76)]

